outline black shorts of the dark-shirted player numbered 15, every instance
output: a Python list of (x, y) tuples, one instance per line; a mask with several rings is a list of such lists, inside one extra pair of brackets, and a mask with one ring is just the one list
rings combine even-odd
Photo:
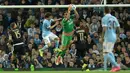
[(25, 47), (24, 47), (24, 44), (21, 44), (21, 45), (15, 45), (14, 46), (14, 54), (17, 54), (17, 55), (25, 55)]

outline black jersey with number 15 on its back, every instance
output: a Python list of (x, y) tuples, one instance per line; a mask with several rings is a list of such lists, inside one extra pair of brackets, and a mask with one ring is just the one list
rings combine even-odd
[(10, 32), (13, 40), (13, 44), (23, 42), (22, 33), (19, 29), (14, 29)]

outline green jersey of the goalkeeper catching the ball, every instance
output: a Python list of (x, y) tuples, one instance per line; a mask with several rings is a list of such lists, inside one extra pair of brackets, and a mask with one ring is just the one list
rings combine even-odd
[(74, 15), (70, 16), (69, 20), (66, 20), (63, 18), (62, 20), (62, 26), (63, 26), (63, 32), (72, 32), (74, 30)]

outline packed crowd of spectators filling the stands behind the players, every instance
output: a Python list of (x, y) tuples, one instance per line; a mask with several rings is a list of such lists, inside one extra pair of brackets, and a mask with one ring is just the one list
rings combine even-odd
[[(130, 0), (109, 0), (108, 3), (129, 4)], [(67, 5), (67, 4), (99, 4), (100, 0), (0, 0), (1, 5)], [(130, 67), (130, 9), (111, 8), (112, 14), (116, 16), (121, 25), (120, 37), (114, 47), (114, 54), (119, 65), (123, 69)], [(0, 68), (30, 68), (33, 64), (35, 68), (81, 68), (85, 63), (89, 69), (103, 67), (102, 54), (102, 26), (103, 8), (77, 8), (80, 19), (76, 21), (75, 29), (83, 25), (86, 31), (85, 45), (77, 43), (74, 36), (74, 43), (66, 51), (63, 64), (55, 65), (54, 42), (51, 48), (44, 51), (43, 56), (39, 55), (39, 49), (44, 46), (42, 40), (42, 21), (44, 14), (51, 12), (53, 18), (62, 18), (66, 9), (40, 8), (40, 9), (0, 9)], [(16, 22), (22, 30), (23, 41), (26, 47), (24, 57), (14, 59), (12, 56), (12, 45), (8, 43), (8, 33), (10, 24)], [(52, 23), (53, 25), (54, 23)], [(61, 38), (61, 21), (53, 30)], [(60, 39), (61, 40), (61, 39)], [(61, 42), (61, 41), (60, 41)], [(109, 65), (109, 63), (108, 63)], [(109, 65), (110, 66), (110, 65)]]

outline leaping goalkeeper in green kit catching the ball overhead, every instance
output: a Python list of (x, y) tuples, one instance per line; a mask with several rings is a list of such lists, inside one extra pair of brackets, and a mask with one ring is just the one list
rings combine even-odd
[[(70, 15), (71, 11), (74, 11), (74, 15)], [(62, 62), (62, 57), (64, 56), (67, 49), (69, 49), (71, 43), (72, 43), (72, 36), (74, 33), (74, 20), (78, 20), (79, 14), (76, 11), (75, 5), (69, 5), (68, 11), (64, 12), (64, 18), (62, 19), (62, 44), (60, 51), (58, 52), (56, 56), (55, 63), (56, 65), (59, 65)]]

